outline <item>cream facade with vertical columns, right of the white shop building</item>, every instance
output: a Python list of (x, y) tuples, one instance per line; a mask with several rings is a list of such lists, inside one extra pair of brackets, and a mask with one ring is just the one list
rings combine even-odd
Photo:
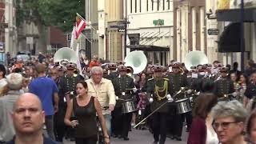
[(205, 0), (174, 1), (174, 59), (178, 62), (193, 50), (207, 54), (205, 6)]

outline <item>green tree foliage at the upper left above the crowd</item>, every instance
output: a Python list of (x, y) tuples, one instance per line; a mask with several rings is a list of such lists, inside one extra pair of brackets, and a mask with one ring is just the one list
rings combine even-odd
[[(84, 0), (17, 0), (17, 24), (21, 21), (41, 22), (45, 26), (58, 26), (71, 31), (76, 13), (84, 15)], [(19, 3), (19, 4), (18, 4)]]

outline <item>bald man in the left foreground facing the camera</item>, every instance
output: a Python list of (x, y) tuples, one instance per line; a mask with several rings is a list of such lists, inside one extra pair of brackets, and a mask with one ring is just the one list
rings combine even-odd
[(18, 97), (14, 103), (12, 118), (16, 136), (7, 144), (57, 144), (42, 135), (45, 112), (38, 96), (25, 93)]

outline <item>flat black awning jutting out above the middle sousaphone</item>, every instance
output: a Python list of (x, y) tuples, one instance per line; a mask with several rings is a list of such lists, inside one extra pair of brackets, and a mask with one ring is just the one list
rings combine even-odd
[(133, 50), (143, 50), (143, 51), (170, 51), (169, 47), (163, 46), (146, 46), (146, 45), (130, 45), (127, 46), (131, 51)]

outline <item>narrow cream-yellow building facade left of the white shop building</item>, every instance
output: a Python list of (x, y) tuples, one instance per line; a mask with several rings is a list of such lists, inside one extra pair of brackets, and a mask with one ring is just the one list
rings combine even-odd
[(98, 0), (98, 58), (122, 61), (122, 33), (117, 26), (123, 21), (123, 1)]

